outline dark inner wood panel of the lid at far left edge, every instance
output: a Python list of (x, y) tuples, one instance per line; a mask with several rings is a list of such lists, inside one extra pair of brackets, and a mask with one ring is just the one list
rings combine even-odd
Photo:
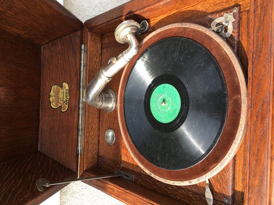
[(0, 39), (0, 162), (38, 150), (41, 51)]

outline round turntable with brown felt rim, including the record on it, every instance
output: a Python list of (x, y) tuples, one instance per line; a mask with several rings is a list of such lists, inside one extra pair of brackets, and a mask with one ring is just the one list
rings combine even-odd
[(186, 185), (214, 175), (243, 136), (243, 73), (216, 35), (192, 24), (164, 27), (144, 39), (123, 73), (123, 138), (140, 167), (167, 183)]

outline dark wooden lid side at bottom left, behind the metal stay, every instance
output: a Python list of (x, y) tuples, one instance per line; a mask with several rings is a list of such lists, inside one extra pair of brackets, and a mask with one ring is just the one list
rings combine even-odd
[(52, 186), (40, 192), (36, 180), (49, 181), (75, 178), (71, 170), (46, 155), (36, 152), (0, 163), (0, 204), (40, 204), (65, 185)]

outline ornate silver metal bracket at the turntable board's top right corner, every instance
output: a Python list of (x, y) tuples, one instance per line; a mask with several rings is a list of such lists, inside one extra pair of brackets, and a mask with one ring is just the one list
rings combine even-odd
[[(238, 12), (237, 8), (233, 8), (233, 12), (225, 13), (224, 16), (220, 16), (213, 20), (211, 23), (210, 30), (215, 31), (217, 34), (221, 35), (223, 38), (228, 38), (233, 32), (233, 22), (235, 18), (233, 17), (233, 13)], [(227, 31), (225, 32), (225, 27), (227, 27)]]

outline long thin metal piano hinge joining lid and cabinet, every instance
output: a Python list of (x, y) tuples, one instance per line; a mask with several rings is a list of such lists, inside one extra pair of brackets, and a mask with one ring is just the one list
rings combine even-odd
[(81, 46), (81, 73), (80, 73), (80, 94), (79, 94), (79, 117), (78, 117), (78, 154), (82, 154), (82, 136), (83, 136), (83, 90), (84, 90), (84, 79), (85, 79), (85, 58), (86, 58), (86, 46)]

